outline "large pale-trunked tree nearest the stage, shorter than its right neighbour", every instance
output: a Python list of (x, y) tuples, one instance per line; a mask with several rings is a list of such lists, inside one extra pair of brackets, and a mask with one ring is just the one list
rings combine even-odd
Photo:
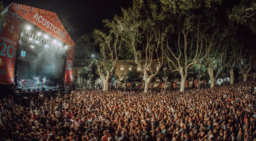
[[(121, 36), (123, 29), (119, 26), (118, 22), (118, 16), (115, 16), (112, 20), (103, 20), (104, 27), (108, 31), (104, 32), (95, 29), (93, 32), (95, 44), (99, 44), (103, 57), (103, 59), (98, 58), (95, 62), (98, 65), (97, 70), (102, 80), (104, 91), (109, 91), (110, 82), (115, 74), (116, 61), (121, 49), (120, 46), (122, 45)], [(109, 53), (110, 56), (106, 53)]]

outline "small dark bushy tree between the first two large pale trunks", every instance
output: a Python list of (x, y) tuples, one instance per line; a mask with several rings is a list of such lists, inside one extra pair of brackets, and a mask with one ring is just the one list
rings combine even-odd
[[(131, 69), (131, 71), (128, 71), (128, 73), (126, 74), (127, 78), (124, 78), (121, 80), (121, 83), (130, 83), (131, 84), (131, 89), (135, 86), (136, 82), (140, 82), (142, 81), (142, 77), (140, 72), (136, 71), (136, 69)], [(126, 80), (125, 80), (126, 79)]]

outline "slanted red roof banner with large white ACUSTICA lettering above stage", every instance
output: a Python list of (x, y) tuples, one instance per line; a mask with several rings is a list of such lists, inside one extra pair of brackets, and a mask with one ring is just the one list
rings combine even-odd
[(9, 9), (44, 32), (74, 47), (75, 43), (61, 24), (56, 13), (17, 3), (12, 3)]

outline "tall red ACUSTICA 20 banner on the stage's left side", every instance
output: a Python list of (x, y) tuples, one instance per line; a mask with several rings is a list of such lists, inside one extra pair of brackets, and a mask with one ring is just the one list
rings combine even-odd
[(14, 83), (14, 66), (23, 22), (10, 13), (5, 17), (6, 25), (0, 36), (0, 83)]

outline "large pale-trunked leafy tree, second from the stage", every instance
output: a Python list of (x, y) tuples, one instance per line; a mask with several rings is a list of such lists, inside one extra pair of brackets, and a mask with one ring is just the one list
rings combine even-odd
[(159, 71), (153, 70), (152, 65), (158, 64), (161, 68), (163, 64), (163, 41), (170, 27), (165, 25), (165, 19), (158, 17), (160, 15), (154, 2), (144, 4), (143, 1), (133, 1), (132, 8), (122, 11), (123, 40), (143, 73), (144, 93), (147, 93), (151, 80)]

